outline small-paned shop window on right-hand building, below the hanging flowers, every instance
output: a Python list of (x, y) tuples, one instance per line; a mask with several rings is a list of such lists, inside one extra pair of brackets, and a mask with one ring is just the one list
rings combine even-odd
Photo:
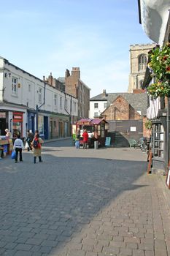
[(152, 153), (153, 157), (163, 158), (163, 125), (154, 124), (152, 127)]

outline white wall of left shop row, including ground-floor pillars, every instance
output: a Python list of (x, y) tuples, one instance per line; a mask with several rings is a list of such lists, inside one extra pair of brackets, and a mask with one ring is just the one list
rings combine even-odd
[[(17, 78), (17, 93), (12, 94), (12, 78)], [(4, 97), (2, 97), (2, 90), (4, 89)], [(39, 89), (42, 89), (42, 102), (39, 102)], [(45, 105), (44, 103), (45, 92)], [(54, 97), (57, 95), (57, 104), (54, 104)], [(60, 108), (60, 97), (62, 97), (62, 108)], [(67, 111), (65, 110), (65, 97), (68, 102)], [(1, 105), (4, 110), (23, 112), (23, 136), (26, 135), (26, 123), (27, 123), (27, 108), (36, 110), (36, 105), (40, 110), (49, 111), (51, 113), (62, 113), (65, 115), (78, 116), (78, 99), (65, 94), (58, 89), (49, 86), (34, 75), (15, 67), (7, 60), (0, 57), (0, 102), (5, 105)], [(76, 108), (74, 108), (74, 103)], [(71, 108), (72, 104), (72, 108)], [(72, 109), (72, 113), (70, 110)], [(12, 113), (12, 112), (11, 112)], [(9, 118), (9, 127), (10, 127)], [(11, 123), (12, 124), (12, 123)]]

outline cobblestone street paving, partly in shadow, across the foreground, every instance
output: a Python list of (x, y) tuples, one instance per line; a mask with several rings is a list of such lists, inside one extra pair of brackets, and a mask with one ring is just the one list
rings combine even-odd
[(139, 149), (46, 143), (0, 162), (0, 255), (170, 255), (169, 189)]

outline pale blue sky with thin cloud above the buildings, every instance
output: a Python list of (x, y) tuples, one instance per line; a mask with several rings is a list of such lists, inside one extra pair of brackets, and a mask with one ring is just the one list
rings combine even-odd
[(128, 89), (129, 48), (150, 43), (137, 0), (0, 0), (0, 56), (38, 78), (80, 67), (90, 97)]

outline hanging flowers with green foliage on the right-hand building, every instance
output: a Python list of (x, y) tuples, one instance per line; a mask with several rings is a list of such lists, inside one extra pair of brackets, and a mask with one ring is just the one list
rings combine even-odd
[(147, 94), (152, 98), (170, 97), (170, 43), (163, 48), (157, 45), (149, 53), (149, 69), (155, 75), (155, 83), (147, 87)]

